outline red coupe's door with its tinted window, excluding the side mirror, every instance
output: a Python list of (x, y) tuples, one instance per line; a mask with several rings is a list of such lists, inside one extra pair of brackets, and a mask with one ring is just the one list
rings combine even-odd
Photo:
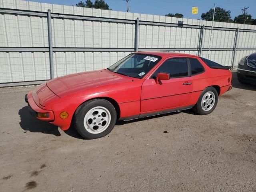
[[(170, 79), (157, 84), (158, 73), (169, 73)], [(187, 58), (165, 60), (142, 84), (141, 112), (186, 106), (193, 90), (190, 73)]]

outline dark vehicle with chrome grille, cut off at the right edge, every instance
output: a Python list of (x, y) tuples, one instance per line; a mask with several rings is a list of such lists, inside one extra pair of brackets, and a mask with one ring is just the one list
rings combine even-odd
[(256, 85), (256, 53), (239, 61), (236, 74), (239, 82)]

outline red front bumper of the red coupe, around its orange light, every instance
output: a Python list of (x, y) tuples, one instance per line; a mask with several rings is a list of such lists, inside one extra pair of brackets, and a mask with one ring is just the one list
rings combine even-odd
[[(32, 92), (28, 92), (28, 94), (25, 95), (25, 102), (28, 103), (28, 110), (33, 117), (43, 121), (54, 121), (54, 112), (40, 108), (34, 101)], [(38, 113), (48, 113), (48, 116), (47, 118), (40, 118), (38, 117)]]

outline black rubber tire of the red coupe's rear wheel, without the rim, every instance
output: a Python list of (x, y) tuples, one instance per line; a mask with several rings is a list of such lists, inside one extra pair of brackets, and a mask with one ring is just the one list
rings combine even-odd
[[(212, 92), (214, 93), (214, 96), (215, 96), (215, 102), (214, 102), (214, 105), (212, 106), (212, 108), (208, 111), (205, 111), (203, 108), (202, 108), (202, 105), (201, 105), (201, 102), (202, 102), (202, 99), (203, 99), (203, 96), (204, 94), (206, 94), (207, 92)], [(200, 115), (207, 115), (207, 114), (210, 114), (211, 112), (213, 112), (213, 110), (216, 108), (216, 105), (218, 103), (218, 92), (217, 90), (214, 88), (214, 87), (207, 87), (205, 90), (203, 90), (203, 92), (201, 93), (196, 105), (193, 107), (193, 111), (200, 114)]]

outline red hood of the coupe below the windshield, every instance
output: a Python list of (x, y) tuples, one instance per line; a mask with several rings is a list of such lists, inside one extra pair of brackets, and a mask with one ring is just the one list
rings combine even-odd
[(54, 94), (61, 98), (74, 92), (129, 80), (130, 77), (108, 70), (97, 70), (62, 76), (52, 79), (46, 82), (46, 84)]

